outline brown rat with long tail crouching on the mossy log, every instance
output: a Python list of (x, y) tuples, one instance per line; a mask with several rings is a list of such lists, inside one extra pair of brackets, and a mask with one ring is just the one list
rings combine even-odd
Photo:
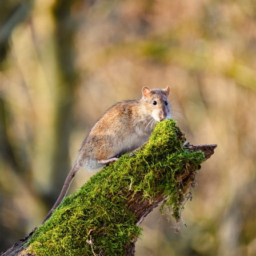
[(67, 175), (61, 194), (43, 222), (65, 197), (75, 174), (81, 167), (95, 170), (118, 161), (118, 156), (138, 149), (149, 140), (157, 122), (171, 117), (168, 102), (170, 87), (142, 88), (142, 98), (122, 101), (110, 107), (95, 123), (82, 142), (75, 165)]

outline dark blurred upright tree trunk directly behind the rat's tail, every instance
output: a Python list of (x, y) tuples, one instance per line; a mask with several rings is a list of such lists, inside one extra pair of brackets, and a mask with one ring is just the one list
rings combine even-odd
[(57, 0), (53, 7), (55, 18), (55, 41), (58, 84), (55, 89), (54, 153), (51, 187), (46, 198), (51, 207), (70, 170), (69, 138), (73, 129), (75, 89), (77, 72), (74, 67), (74, 37), (77, 23), (71, 15), (75, 1)]

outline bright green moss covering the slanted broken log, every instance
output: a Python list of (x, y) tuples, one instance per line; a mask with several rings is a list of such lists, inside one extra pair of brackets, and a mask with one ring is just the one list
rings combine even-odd
[[(182, 149), (185, 141), (175, 121), (158, 123), (149, 143), (134, 153), (123, 155), (65, 198), (52, 217), (39, 226), (28, 245), (36, 255), (123, 255), (123, 245), (141, 234), (137, 219), (127, 207), (127, 192), (143, 191), (154, 201), (167, 196), (167, 205), (177, 221), (193, 182), (182, 181), (189, 165), (196, 171), (205, 160), (202, 152)], [(195, 177), (192, 175), (191, 177)], [(90, 245), (88, 240), (92, 240)]]

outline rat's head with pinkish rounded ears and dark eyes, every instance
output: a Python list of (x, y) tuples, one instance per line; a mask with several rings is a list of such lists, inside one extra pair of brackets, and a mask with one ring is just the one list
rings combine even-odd
[(171, 117), (171, 109), (168, 102), (168, 96), (170, 95), (169, 85), (165, 89), (151, 90), (145, 86), (142, 88), (142, 95), (145, 107), (155, 121), (160, 122)]

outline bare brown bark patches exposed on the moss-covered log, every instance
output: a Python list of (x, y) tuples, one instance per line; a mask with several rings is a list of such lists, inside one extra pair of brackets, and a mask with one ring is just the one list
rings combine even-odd
[[(217, 147), (217, 145), (186, 145), (184, 146), (185, 149), (191, 150), (191, 151), (199, 151), (201, 150), (205, 154), (205, 158), (209, 159), (211, 155), (214, 154), (214, 149)], [(181, 179), (183, 182), (183, 185), (190, 186), (191, 182), (191, 172), (194, 172), (195, 170), (191, 170), (190, 167), (187, 168), (187, 171), (185, 174), (182, 175)], [(127, 194), (127, 202), (131, 209), (131, 211), (136, 215), (137, 217), (137, 224), (141, 223), (143, 219), (146, 217), (147, 214), (149, 214), (155, 207), (159, 205), (164, 199), (164, 194), (158, 194), (157, 197), (155, 197), (155, 201), (152, 203), (149, 202), (148, 199), (142, 199), (143, 193), (139, 191), (132, 197), (132, 192), (129, 192)], [(15, 243), (14, 246), (10, 247), (5, 253), (0, 254), (1, 256), (14, 256), (14, 255), (23, 255), (23, 256), (30, 256), (33, 255), (31, 253), (28, 253), (22, 246), (25, 245), (25, 243), (28, 241), (28, 239), (33, 235), (32, 231), (26, 238), (22, 239), (20, 242)], [(137, 238), (134, 238), (134, 241), (123, 245), (125, 247), (125, 256), (134, 256), (135, 253), (135, 242)]]

